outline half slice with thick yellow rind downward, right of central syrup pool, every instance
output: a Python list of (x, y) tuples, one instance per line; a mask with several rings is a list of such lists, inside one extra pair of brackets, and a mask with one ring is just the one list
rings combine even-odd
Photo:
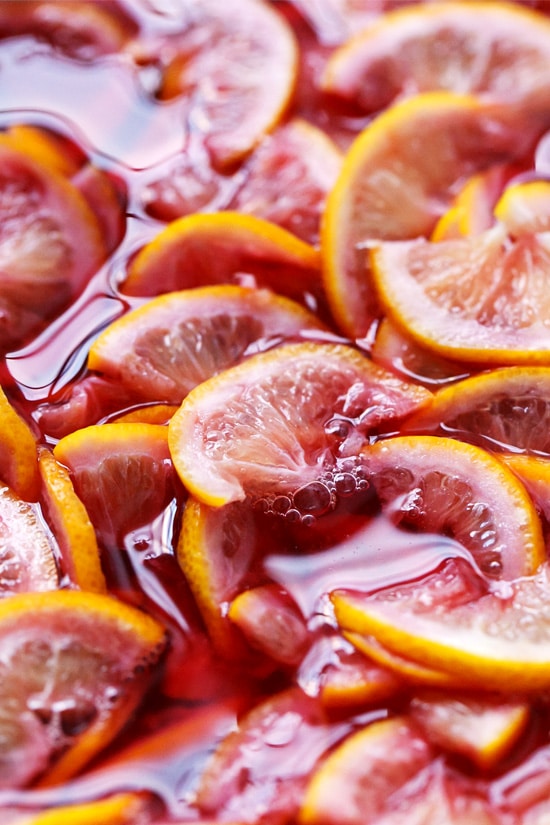
[(479, 690), (534, 692), (550, 684), (549, 571), (477, 595), (455, 560), (412, 583), (372, 594), (333, 592), (344, 630), (372, 635), (390, 652), (457, 676)]

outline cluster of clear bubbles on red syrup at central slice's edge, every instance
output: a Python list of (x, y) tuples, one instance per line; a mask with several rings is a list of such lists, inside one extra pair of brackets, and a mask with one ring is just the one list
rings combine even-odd
[(355, 456), (338, 460), (319, 478), (308, 481), (293, 492), (268, 494), (257, 499), (255, 507), (264, 513), (308, 526), (334, 510), (338, 501), (369, 487), (364, 461)]

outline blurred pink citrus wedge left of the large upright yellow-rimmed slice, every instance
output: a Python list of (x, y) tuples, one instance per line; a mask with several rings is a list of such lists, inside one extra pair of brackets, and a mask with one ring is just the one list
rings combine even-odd
[(318, 244), (325, 199), (342, 153), (320, 129), (295, 118), (264, 138), (240, 171), (244, 182), (232, 208)]

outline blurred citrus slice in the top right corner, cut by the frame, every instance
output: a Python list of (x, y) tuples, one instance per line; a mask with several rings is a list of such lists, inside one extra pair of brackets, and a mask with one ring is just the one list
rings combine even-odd
[(322, 85), (373, 112), (437, 89), (543, 106), (550, 22), (512, 4), (443, 2), (388, 12), (337, 49)]

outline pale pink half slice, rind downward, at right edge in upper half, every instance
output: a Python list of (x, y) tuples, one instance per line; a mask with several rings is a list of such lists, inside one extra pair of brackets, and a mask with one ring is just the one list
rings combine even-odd
[(378, 244), (370, 256), (388, 316), (423, 346), (482, 364), (549, 363), (550, 236), (481, 235)]

